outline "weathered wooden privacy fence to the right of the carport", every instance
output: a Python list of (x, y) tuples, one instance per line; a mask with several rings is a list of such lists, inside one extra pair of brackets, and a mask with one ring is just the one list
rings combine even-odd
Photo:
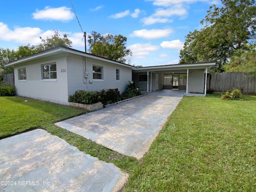
[(244, 72), (213, 73), (208, 75), (207, 90), (212, 92), (226, 92), (233, 88), (243, 94), (256, 94), (256, 77)]

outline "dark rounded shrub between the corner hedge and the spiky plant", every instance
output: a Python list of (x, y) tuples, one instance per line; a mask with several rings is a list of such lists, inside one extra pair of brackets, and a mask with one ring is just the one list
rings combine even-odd
[(99, 92), (100, 95), (100, 102), (102, 102), (104, 105), (108, 104), (108, 103), (114, 103), (114, 102), (118, 102), (121, 100), (121, 95), (120, 92), (118, 90), (118, 88), (116, 89), (102, 89)]

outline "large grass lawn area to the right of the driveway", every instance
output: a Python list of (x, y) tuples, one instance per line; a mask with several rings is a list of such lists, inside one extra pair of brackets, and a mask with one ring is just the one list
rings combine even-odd
[(184, 97), (125, 191), (256, 191), (256, 96)]

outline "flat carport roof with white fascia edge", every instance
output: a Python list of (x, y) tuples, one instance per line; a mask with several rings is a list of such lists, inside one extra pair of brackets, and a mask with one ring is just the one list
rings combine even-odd
[(215, 65), (215, 62), (204, 63), (187, 63), (187, 64), (173, 64), (161, 66), (139, 67), (134, 72), (155, 72), (155, 73), (186, 73), (187, 69), (206, 69), (209, 70)]

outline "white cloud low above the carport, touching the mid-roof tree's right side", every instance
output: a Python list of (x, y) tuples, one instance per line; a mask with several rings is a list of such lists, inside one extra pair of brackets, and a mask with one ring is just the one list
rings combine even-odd
[(159, 49), (159, 46), (151, 45), (150, 43), (147, 44), (133, 44), (127, 47), (132, 51), (132, 56), (135, 59), (145, 59), (146, 55), (149, 54), (149, 52), (154, 52)]

